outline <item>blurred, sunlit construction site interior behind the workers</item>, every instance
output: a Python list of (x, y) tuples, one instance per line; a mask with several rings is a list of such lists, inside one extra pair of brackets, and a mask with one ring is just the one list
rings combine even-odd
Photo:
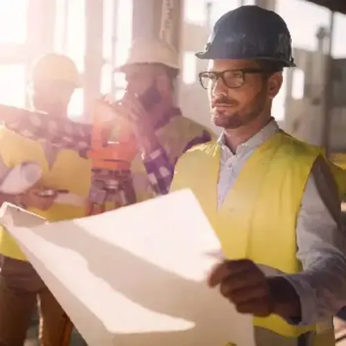
[[(3, 0), (0, 104), (29, 108), (30, 66), (45, 53), (61, 53), (75, 62), (82, 76), (69, 117), (90, 123), (100, 95), (115, 99), (124, 95), (124, 77), (113, 71), (127, 59), (131, 42), (161, 37), (179, 53), (176, 104), (185, 117), (219, 134), (210, 122), (208, 98), (198, 80), (207, 62), (194, 54), (203, 49), (221, 15), (242, 5), (258, 5), (275, 10), (286, 21), (297, 65), (284, 71), (273, 117), (289, 134), (325, 147), (331, 161), (346, 168), (345, 4), (345, 0)], [(82, 345), (79, 340), (72, 344)], [(34, 345), (39, 345), (35, 323), (25, 346)]]

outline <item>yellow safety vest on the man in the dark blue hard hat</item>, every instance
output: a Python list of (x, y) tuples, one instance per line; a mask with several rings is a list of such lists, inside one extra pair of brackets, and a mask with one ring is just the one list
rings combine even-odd
[[(302, 270), (296, 258), (295, 225), (302, 194), (320, 149), (277, 133), (246, 161), (217, 209), (220, 147), (215, 142), (194, 147), (176, 165), (172, 191), (190, 188), (201, 203), (228, 259), (248, 258), (284, 273)], [(341, 172), (338, 172), (341, 173)], [(338, 175), (345, 181), (343, 174)], [(255, 318), (254, 325), (287, 337), (318, 327), (294, 327), (272, 315)], [(334, 345), (329, 330), (316, 335), (314, 345)]]

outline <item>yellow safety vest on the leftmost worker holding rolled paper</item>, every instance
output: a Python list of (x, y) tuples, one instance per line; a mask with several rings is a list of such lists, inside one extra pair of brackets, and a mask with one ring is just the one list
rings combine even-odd
[[(80, 197), (87, 197), (91, 182), (91, 162), (72, 150), (60, 150), (52, 167), (46, 161), (44, 148), (38, 142), (0, 130), (0, 156), (7, 167), (15, 167), (25, 161), (38, 163), (44, 172), (42, 183), (48, 188), (69, 190)], [(48, 221), (75, 219), (85, 216), (85, 208), (55, 203), (49, 210), (30, 208)], [(0, 253), (17, 260), (26, 260), (16, 242), (0, 228)]]

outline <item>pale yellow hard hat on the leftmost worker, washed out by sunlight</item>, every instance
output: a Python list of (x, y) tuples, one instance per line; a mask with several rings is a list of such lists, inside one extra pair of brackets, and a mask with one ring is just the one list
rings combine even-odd
[(80, 73), (75, 63), (66, 55), (50, 53), (40, 57), (31, 71), (31, 80), (61, 80), (81, 86)]

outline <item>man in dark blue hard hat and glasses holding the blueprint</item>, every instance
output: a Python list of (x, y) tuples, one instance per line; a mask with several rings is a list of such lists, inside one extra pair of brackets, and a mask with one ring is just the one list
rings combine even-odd
[(295, 66), (289, 30), (275, 12), (242, 6), (217, 21), (197, 57), (209, 60), (199, 78), (224, 132), (179, 159), (171, 190), (192, 189), (219, 237), (224, 260), (209, 284), (254, 316), (257, 346), (335, 345), (345, 177), (271, 116), (282, 70)]

